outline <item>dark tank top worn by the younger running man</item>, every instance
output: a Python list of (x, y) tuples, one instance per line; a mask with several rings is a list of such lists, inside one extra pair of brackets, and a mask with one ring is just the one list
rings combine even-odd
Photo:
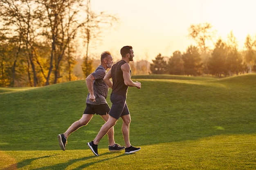
[(112, 81), (113, 81), (112, 93), (116, 95), (126, 96), (127, 94), (128, 86), (124, 84), (123, 71), (121, 70), (121, 66), (125, 63), (126, 61), (121, 60), (116, 64), (114, 64), (111, 68), (111, 75), (112, 75)]

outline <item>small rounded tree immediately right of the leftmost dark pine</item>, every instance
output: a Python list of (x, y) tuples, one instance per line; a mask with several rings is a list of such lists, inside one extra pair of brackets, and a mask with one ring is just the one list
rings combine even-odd
[(169, 74), (184, 75), (184, 61), (182, 60), (182, 54), (180, 51), (175, 51), (173, 56), (170, 57), (168, 62)]

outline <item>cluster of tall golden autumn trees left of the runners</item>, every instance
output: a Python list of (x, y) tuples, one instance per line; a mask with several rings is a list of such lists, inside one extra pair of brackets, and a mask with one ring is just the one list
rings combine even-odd
[(0, 86), (44, 86), (76, 79), (73, 68), (83, 40), (88, 75), (89, 44), (115, 15), (94, 13), (90, 0), (0, 0)]

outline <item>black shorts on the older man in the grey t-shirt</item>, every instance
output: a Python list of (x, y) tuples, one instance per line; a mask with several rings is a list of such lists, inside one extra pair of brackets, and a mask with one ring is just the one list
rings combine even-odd
[(95, 113), (97, 115), (106, 115), (108, 114), (110, 108), (108, 106), (108, 104), (86, 104), (86, 108), (83, 112), (83, 114), (92, 114), (94, 115)]

